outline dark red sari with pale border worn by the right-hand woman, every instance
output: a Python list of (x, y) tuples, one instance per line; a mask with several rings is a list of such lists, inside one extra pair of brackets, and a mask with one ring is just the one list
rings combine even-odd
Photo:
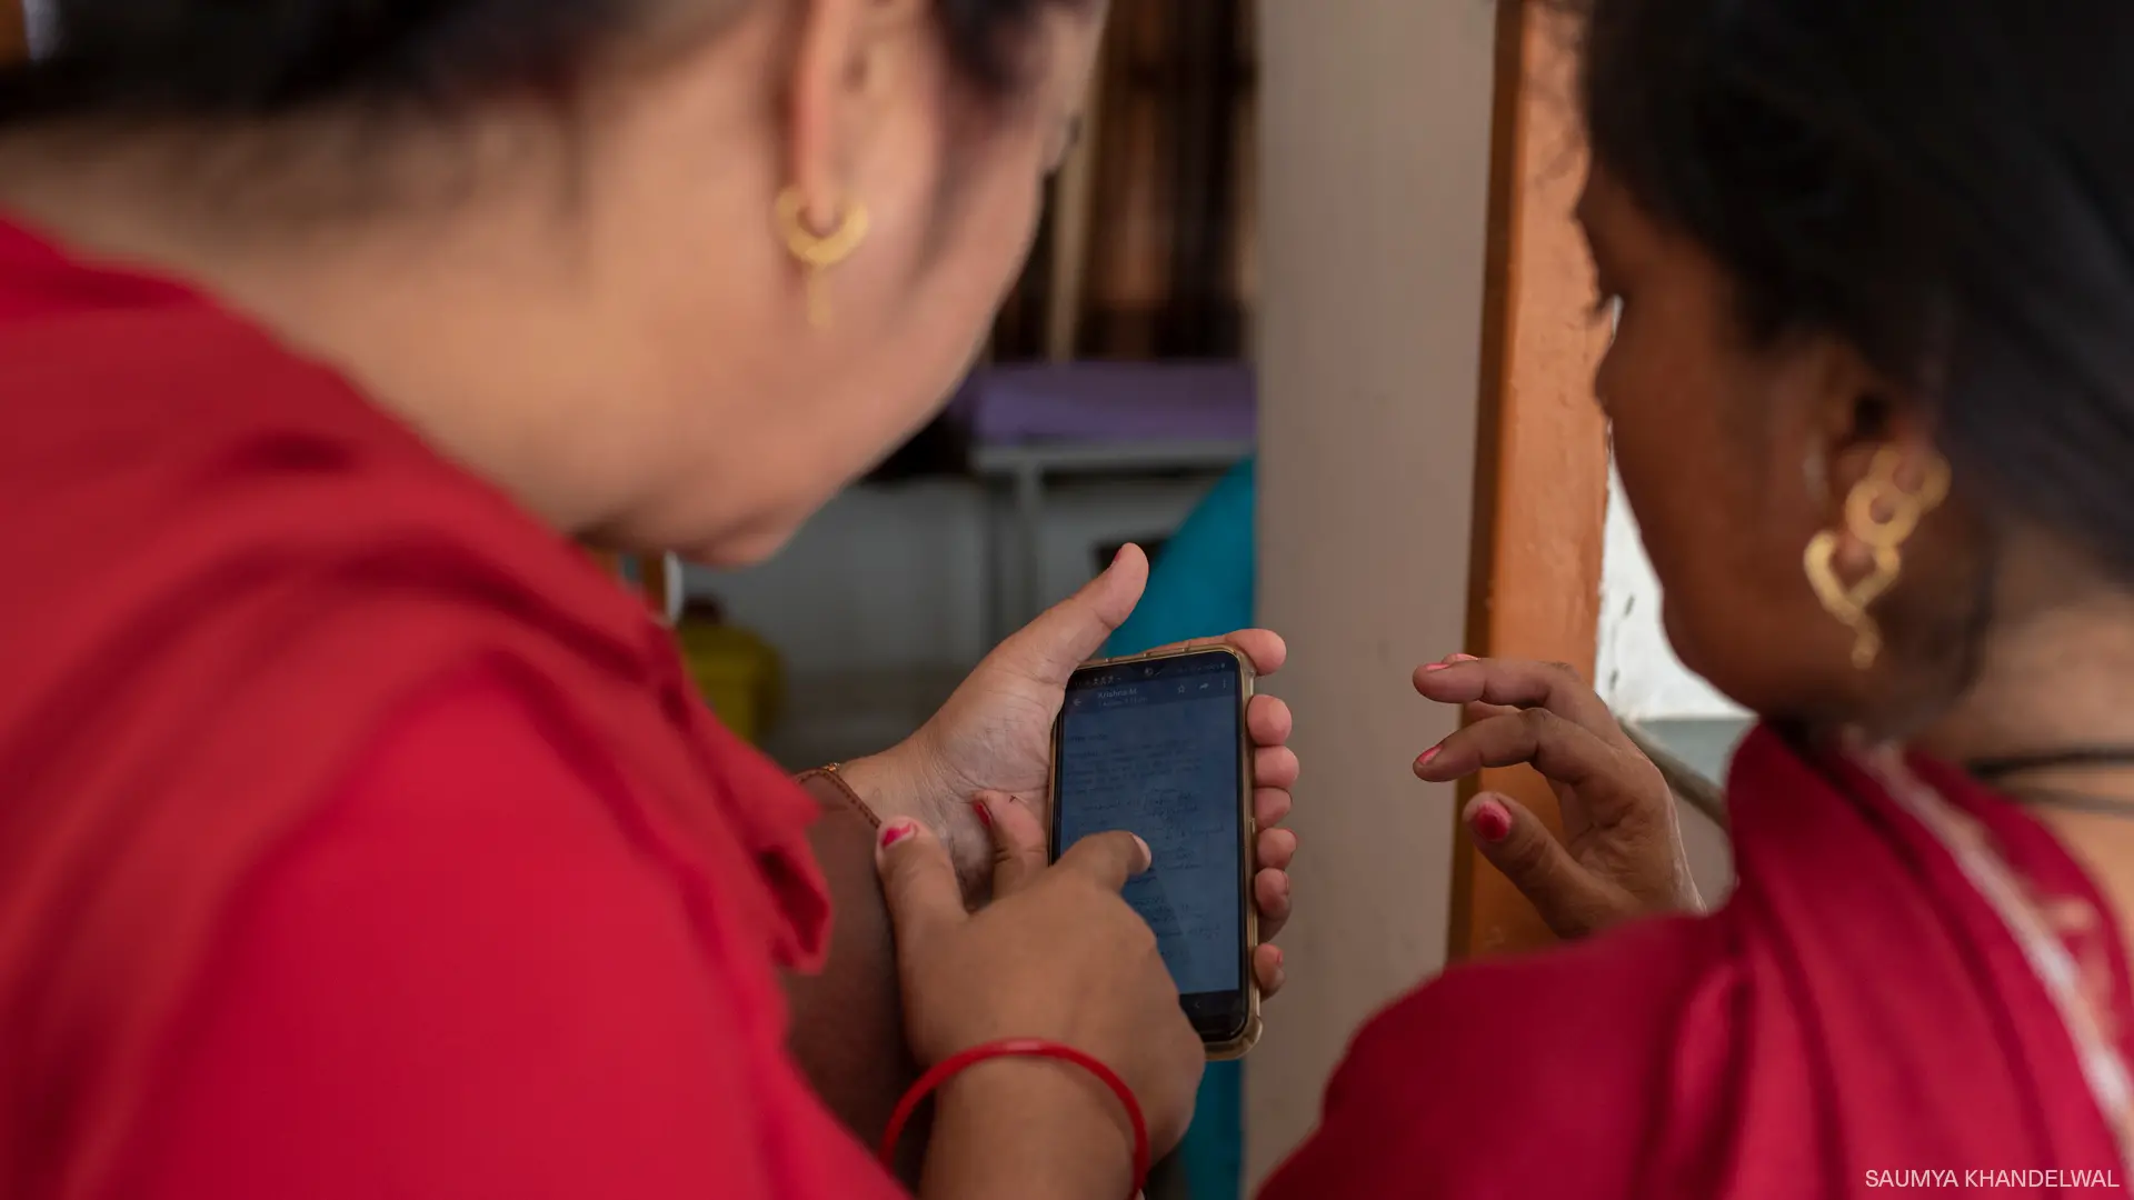
[[(1995, 854), (2130, 1057), (2111, 907), (2008, 801), (1912, 760)], [(1261, 1200), (2113, 1196), (2119, 1138), (2023, 944), (1950, 843), (1850, 758), (1756, 730), (1707, 918), (1458, 967), (1391, 1006)]]

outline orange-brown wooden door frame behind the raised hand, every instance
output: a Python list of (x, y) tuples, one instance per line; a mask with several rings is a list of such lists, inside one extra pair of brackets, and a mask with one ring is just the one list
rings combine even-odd
[[(1564, 21), (1536, 0), (1498, 4), (1468, 651), (1562, 662), (1592, 679), (1609, 472), (1592, 374), (1607, 329), (1592, 320), (1592, 267), (1571, 216), (1586, 169)], [(1530, 769), (1483, 771), (1462, 803), (1477, 790), (1560, 828), (1556, 796)], [(1453, 820), (1447, 957), (1554, 942)]]

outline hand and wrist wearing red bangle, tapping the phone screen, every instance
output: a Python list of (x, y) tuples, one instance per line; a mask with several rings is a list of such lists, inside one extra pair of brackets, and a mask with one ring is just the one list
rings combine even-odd
[[(1046, 865), (1046, 828), (1020, 801), (982, 801), (994, 903), (971, 914), (937, 835), (892, 822), (879, 850), (896, 925), (905, 1029), (926, 1065), (1001, 1038), (1084, 1051), (1127, 1080), (1157, 1155), (1184, 1136), (1204, 1068), (1157, 940), (1120, 888), (1148, 869), (1133, 835), (1105, 833)], [(941, 1091), (924, 1196), (1110, 1200), (1131, 1174), (1131, 1125), (1082, 1068), (977, 1063)]]

